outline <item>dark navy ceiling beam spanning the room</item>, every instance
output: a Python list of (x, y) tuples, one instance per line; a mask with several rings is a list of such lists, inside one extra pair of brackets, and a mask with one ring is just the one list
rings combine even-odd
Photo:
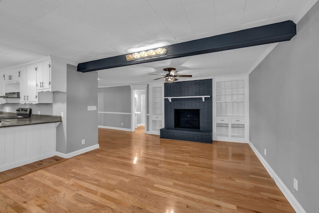
[(276, 43), (290, 40), (296, 34), (296, 24), (289, 20), (164, 46), (163, 48), (167, 49), (167, 53), (161, 57), (127, 61), (125, 54), (79, 63), (77, 71), (90, 72), (101, 69), (165, 60), (169, 58), (179, 58), (248, 46)]

